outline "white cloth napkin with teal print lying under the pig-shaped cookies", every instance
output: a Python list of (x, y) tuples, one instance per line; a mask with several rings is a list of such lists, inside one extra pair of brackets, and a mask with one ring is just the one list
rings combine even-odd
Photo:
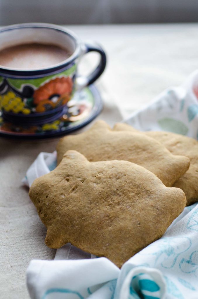
[[(126, 120), (140, 130), (167, 130), (198, 139), (198, 72), (164, 91)], [(40, 153), (24, 184), (56, 167), (56, 152)], [(124, 246), (124, 244), (123, 244)], [(53, 261), (32, 260), (27, 285), (34, 299), (197, 299), (198, 205), (186, 207), (165, 234), (118, 269), (106, 258), (66, 244)], [(77, 260), (78, 259), (78, 260)]]

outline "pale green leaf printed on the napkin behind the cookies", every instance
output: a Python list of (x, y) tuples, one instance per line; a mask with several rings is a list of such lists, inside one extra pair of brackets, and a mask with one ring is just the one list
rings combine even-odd
[(162, 118), (158, 120), (159, 126), (162, 130), (186, 135), (188, 133), (188, 127), (182, 123), (180, 120), (175, 120), (173, 118)]

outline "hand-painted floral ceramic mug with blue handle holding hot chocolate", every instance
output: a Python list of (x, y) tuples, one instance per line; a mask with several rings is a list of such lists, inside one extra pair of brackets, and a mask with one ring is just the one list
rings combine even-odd
[[(97, 80), (106, 66), (106, 55), (99, 45), (82, 43), (63, 27), (26, 23), (0, 29), (0, 49), (24, 43), (54, 44), (72, 54), (57, 65), (36, 70), (0, 65), (0, 109), (3, 118), (12, 123), (41, 125), (61, 117), (74, 92)], [(80, 77), (79, 59), (91, 51), (100, 54), (99, 64), (89, 76)]]

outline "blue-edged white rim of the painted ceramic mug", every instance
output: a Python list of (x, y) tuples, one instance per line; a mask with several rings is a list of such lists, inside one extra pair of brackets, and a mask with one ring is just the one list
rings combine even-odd
[[(15, 25), (9, 25), (5, 26), (0, 29), (0, 34), (5, 31), (10, 31), (10, 30), (16, 30), (16, 29), (26, 29), (26, 28), (45, 28), (45, 29), (50, 29), (50, 30), (56, 30), (60, 31), (66, 35), (68, 35), (71, 39), (73, 39), (75, 43), (75, 51), (74, 53), (68, 57), (66, 60), (63, 60), (62, 62), (48, 67), (48, 68), (41, 68), (41, 69), (36, 69), (36, 70), (23, 70), (23, 69), (12, 69), (12, 68), (6, 68), (0, 65), (0, 75), (4, 77), (14, 77), (14, 78), (34, 78), (34, 77), (43, 77), (44, 75), (48, 75), (49, 73), (54, 73), (56, 74), (59, 71), (63, 71), (64, 69), (70, 67), (74, 63), (74, 61), (80, 56), (80, 53), (82, 51), (80, 47), (80, 41), (78, 37), (73, 33), (71, 30), (66, 29), (62, 26), (59, 25), (54, 25), (54, 24), (48, 24), (48, 23), (22, 23), (22, 24), (15, 24)], [(22, 78), (23, 77), (23, 78)], [(37, 77), (37, 78), (38, 78)]]

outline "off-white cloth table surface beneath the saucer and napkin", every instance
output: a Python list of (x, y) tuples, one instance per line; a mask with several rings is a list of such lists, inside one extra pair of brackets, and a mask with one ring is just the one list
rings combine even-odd
[[(108, 64), (97, 86), (104, 99), (100, 118), (110, 125), (148, 103), (165, 88), (179, 85), (198, 68), (198, 25), (68, 26), (83, 40), (96, 40)], [(90, 54), (80, 67), (95, 60)], [(115, 104), (118, 106), (116, 109)], [(41, 151), (52, 152), (57, 138), (11, 141), (0, 138), (0, 296), (26, 299), (25, 271), (31, 259), (53, 259), (21, 179)]]

